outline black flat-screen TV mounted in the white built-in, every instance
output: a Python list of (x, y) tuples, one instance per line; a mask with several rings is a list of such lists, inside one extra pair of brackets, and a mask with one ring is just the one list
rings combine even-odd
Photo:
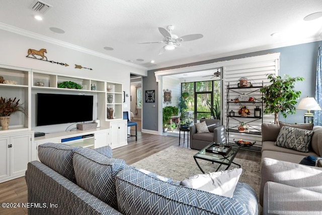
[(93, 96), (37, 93), (37, 126), (93, 120)]

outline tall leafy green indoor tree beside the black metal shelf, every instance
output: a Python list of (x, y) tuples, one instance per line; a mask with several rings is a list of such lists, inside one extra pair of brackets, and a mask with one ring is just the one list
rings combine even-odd
[(294, 90), (294, 84), (297, 81), (303, 81), (304, 78), (292, 78), (288, 75), (281, 78), (274, 74), (268, 74), (267, 79), (270, 80), (271, 85), (264, 86), (260, 90), (264, 94), (264, 113), (274, 113), (274, 124), (278, 124), (279, 113), (286, 118), (287, 114), (294, 114), (296, 112), (296, 100), (300, 97), (301, 92)]

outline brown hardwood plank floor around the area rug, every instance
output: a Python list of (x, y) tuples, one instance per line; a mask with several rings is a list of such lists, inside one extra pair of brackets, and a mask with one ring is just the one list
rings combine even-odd
[[(135, 131), (131, 130), (132, 132)], [(179, 138), (138, 132), (137, 141), (135, 141), (135, 137), (128, 138), (128, 145), (114, 149), (113, 157), (124, 159), (128, 165), (131, 165), (170, 146), (179, 146)], [(181, 139), (180, 147), (187, 148), (187, 139), (185, 139), (184, 143), (183, 139)], [(260, 162), (261, 153), (239, 150), (236, 158)], [(0, 184), (0, 203), (22, 203), (27, 201), (27, 185), (24, 177)], [(0, 207), (0, 214), (27, 214), (27, 212), (27, 208), (22, 207)]]

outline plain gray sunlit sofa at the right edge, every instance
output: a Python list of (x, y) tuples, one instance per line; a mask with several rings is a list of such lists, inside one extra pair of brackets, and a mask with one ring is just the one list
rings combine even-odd
[[(313, 131), (307, 153), (274, 145), (283, 126)], [(322, 168), (299, 164), (309, 155), (322, 155), (321, 126), (262, 124), (260, 203), (263, 214), (321, 214)]]

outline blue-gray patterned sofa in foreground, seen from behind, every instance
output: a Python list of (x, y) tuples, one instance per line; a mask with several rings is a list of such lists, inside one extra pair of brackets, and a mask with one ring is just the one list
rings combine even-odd
[(192, 189), (96, 150), (43, 144), (26, 171), (28, 214), (257, 214), (257, 196), (237, 183), (231, 198)]

